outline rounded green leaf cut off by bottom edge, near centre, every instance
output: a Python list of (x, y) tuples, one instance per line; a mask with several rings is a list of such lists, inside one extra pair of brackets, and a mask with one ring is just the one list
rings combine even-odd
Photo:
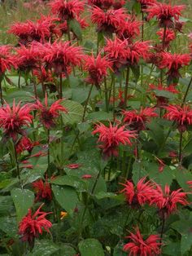
[(94, 238), (88, 238), (81, 241), (78, 247), (81, 256), (104, 256), (101, 243)]

